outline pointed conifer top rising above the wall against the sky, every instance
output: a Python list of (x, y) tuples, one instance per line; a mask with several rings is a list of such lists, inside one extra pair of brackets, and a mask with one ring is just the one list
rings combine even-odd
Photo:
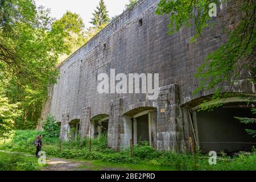
[(92, 23), (95, 27), (101, 27), (106, 23), (109, 23), (109, 11), (106, 10), (106, 5), (103, 0), (100, 0), (99, 6), (94, 10)]

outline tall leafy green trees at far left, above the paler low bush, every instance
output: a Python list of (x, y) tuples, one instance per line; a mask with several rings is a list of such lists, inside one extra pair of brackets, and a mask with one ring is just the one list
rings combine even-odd
[(64, 48), (52, 41), (56, 36), (51, 33), (48, 9), (36, 7), (32, 0), (0, 3), (1, 97), (18, 105), (16, 128), (34, 129), (48, 86), (58, 76), (56, 63)]

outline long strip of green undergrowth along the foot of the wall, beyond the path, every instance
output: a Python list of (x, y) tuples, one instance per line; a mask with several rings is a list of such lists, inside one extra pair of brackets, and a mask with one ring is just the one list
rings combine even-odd
[[(13, 138), (1, 141), (0, 150), (19, 151), (34, 154), (33, 141), (42, 134), (40, 131), (16, 131)], [(26, 144), (27, 140), (27, 144)], [(92, 140), (92, 150), (89, 151), (89, 139), (82, 141), (62, 142), (59, 138), (44, 137), (43, 151), (47, 156), (67, 159), (100, 160), (106, 163), (140, 164), (142, 166), (168, 167), (170, 170), (256, 170), (256, 153), (241, 153), (239, 156), (218, 156), (217, 165), (210, 166), (208, 156), (199, 152), (196, 154), (196, 163), (191, 154), (176, 154), (174, 152), (160, 152), (144, 143), (134, 146), (134, 155), (130, 149), (115, 152), (106, 147), (106, 136)]]

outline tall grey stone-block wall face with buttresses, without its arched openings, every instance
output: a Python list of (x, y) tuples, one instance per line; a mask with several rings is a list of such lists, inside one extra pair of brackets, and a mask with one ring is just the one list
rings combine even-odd
[[(128, 143), (123, 114), (137, 108), (158, 109), (157, 147), (159, 150), (184, 151), (189, 148), (191, 127), (187, 110), (181, 106), (212, 92), (192, 94), (197, 86), (193, 77), (210, 51), (220, 47), (226, 36), (224, 23), (229, 21), (225, 10), (218, 12), (216, 26), (205, 30), (197, 43), (189, 43), (193, 28), (181, 28), (168, 35), (168, 16), (155, 15), (156, 0), (139, 1), (125, 11), (84, 47), (60, 65), (60, 77), (49, 93), (42, 118), (52, 113), (61, 122), (80, 119), (83, 137), (90, 135), (90, 119), (109, 114), (109, 146), (118, 150)], [(139, 20), (142, 19), (142, 26)], [(230, 28), (230, 23), (225, 25)], [(160, 96), (148, 100), (146, 94), (99, 94), (97, 75), (115, 69), (116, 73), (159, 73)], [(254, 93), (251, 85), (240, 80), (239, 92)], [(160, 110), (164, 109), (161, 113)], [(62, 136), (64, 138), (64, 136)]]

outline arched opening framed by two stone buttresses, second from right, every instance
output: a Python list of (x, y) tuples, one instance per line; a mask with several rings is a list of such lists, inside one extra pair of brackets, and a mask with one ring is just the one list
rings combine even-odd
[[(149, 143), (150, 146), (156, 148), (156, 122), (157, 122), (157, 109), (156, 107), (138, 107), (130, 110), (124, 114), (124, 125), (126, 126), (125, 136), (130, 136), (133, 144)], [(130, 127), (129, 127), (130, 122)], [(129, 135), (130, 133), (130, 135)], [(126, 139), (129, 143), (129, 139)]]

